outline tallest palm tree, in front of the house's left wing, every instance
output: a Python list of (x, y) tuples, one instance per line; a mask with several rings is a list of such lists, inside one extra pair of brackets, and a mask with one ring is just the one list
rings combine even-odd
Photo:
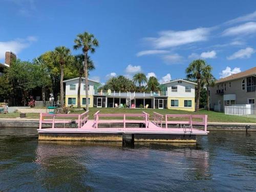
[(84, 55), (84, 77), (86, 79), (86, 111), (89, 111), (89, 97), (88, 97), (88, 52), (91, 51), (91, 53), (95, 52), (95, 47), (99, 46), (98, 40), (94, 37), (93, 34), (90, 34), (88, 32), (79, 33), (77, 35), (77, 38), (74, 40), (75, 45), (74, 49), (80, 49), (82, 48), (82, 52)]

